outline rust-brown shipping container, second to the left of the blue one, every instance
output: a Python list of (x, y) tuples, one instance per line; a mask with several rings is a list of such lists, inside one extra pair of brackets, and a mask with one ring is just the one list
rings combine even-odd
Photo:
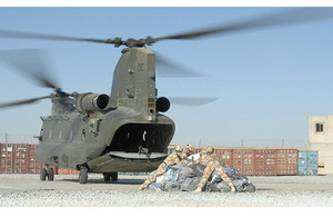
[(255, 150), (255, 172), (256, 176), (276, 175), (276, 149), (256, 149)]

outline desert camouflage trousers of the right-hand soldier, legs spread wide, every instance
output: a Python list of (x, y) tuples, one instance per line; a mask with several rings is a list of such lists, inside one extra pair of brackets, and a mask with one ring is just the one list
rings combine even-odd
[(212, 174), (214, 170), (221, 176), (221, 178), (223, 179), (223, 181), (224, 181), (230, 188), (234, 187), (232, 180), (231, 180), (231, 179), (229, 178), (229, 176), (226, 175), (225, 169), (220, 165), (219, 161), (213, 160), (213, 161), (210, 161), (210, 162), (206, 165), (206, 167), (205, 167), (205, 169), (204, 169), (204, 171), (203, 171), (202, 178), (201, 178), (200, 183), (198, 184), (198, 188), (203, 188), (203, 187), (205, 186), (208, 179), (210, 178), (211, 174)]

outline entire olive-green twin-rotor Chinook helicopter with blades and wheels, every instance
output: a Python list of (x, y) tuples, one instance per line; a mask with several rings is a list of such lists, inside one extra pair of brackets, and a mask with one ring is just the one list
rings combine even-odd
[[(160, 38), (87, 39), (74, 37), (0, 30), (1, 38), (64, 40), (124, 46), (113, 72), (111, 95), (93, 92), (68, 93), (42, 76), (33, 75), (44, 87), (54, 91), (49, 96), (2, 103), (0, 108), (33, 103), (51, 99), (51, 115), (41, 117), (37, 160), (46, 165), (40, 179), (53, 180), (49, 166), (77, 169), (79, 183), (88, 181), (88, 172), (103, 174), (104, 180), (118, 179), (119, 171), (152, 171), (167, 157), (168, 145), (175, 125), (162, 115), (170, 108), (165, 97), (158, 97), (155, 87), (155, 53), (148, 48), (163, 40), (194, 39), (264, 27), (307, 22), (332, 18), (331, 11), (303, 9), (246, 19), (206, 30), (191, 31)], [(17, 65), (14, 59), (2, 58)], [(20, 66), (24, 70), (26, 66)]]

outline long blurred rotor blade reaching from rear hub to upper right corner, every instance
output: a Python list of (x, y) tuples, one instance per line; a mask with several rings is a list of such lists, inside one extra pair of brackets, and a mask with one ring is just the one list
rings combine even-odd
[(230, 33), (241, 30), (251, 30), (258, 28), (269, 28), (283, 24), (293, 24), (302, 22), (311, 22), (317, 20), (325, 20), (333, 18), (333, 8), (302, 8), (295, 10), (287, 10), (273, 14), (261, 16), (258, 18), (248, 19), (245, 21), (235, 22), (232, 24), (224, 24), (206, 30), (192, 31), (188, 33), (173, 34), (168, 37), (160, 37), (151, 39), (152, 42), (169, 39), (193, 39), (215, 33)]

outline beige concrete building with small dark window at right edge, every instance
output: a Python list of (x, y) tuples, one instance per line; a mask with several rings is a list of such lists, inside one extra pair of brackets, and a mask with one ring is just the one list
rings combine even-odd
[[(316, 124), (323, 125), (323, 131), (316, 131)], [(333, 174), (333, 116), (309, 117), (309, 149), (319, 151), (319, 174)]]

